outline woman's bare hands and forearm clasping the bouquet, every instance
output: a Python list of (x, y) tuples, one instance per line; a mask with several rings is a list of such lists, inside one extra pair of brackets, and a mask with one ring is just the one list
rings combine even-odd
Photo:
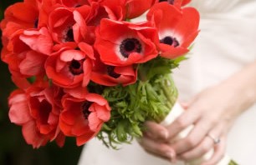
[[(208, 87), (183, 105), (186, 109), (171, 125), (162, 127), (156, 122), (146, 122), (147, 132), (141, 146), (148, 153), (173, 162), (176, 158), (200, 158), (214, 148), (212, 158), (202, 165), (218, 163), (225, 153), (228, 130), (236, 118), (256, 102), (256, 62), (219, 84)], [(194, 125), (187, 138), (168, 143), (184, 128)], [(214, 145), (210, 134), (220, 138)]]

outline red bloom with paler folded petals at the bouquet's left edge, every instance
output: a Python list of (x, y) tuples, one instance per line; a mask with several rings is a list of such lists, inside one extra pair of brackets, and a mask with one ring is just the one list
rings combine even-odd
[(2, 58), (14, 76), (31, 77), (44, 73), (44, 62), (48, 56), (42, 52), (49, 53), (53, 43), (49, 36), (40, 32), (20, 30), (10, 39), (7, 46), (9, 52)]

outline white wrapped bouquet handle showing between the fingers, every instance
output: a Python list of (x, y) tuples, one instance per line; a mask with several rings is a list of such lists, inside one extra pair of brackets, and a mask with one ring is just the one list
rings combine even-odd
[[(169, 114), (166, 116), (166, 118), (161, 122), (161, 125), (167, 126), (167, 125), (171, 124), (184, 111), (185, 110), (183, 109), (181, 104), (179, 102), (176, 102), (174, 104), (174, 106), (172, 107), (172, 111), (169, 112)], [(192, 130), (192, 128), (193, 128), (193, 125), (191, 125), (191, 126), (185, 128), (184, 130), (182, 130), (182, 132), (179, 133), (177, 135), (177, 137), (172, 140), (172, 142), (175, 142), (175, 141), (177, 141), (179, 139), (182, 139), (182, 138), (186, 138), (188, 133)], [(211, 158), (212, 154), (213, 154), (213, 148), (208, 153), (202, 155), (202, 158), (198, 158), (198, 159), (192, 160), (190, 162), (187, 162), (186, 164), (187, 165), (198, 165), (198, 164), (201, 164), (203, 161), (206, 161), (209, 158)], [(231, 162), (232, 162), (232, 160), (228, 157), (228, 155), (225, 155), (223, 157), (223, 159), (217, 165), (228, 165)]]

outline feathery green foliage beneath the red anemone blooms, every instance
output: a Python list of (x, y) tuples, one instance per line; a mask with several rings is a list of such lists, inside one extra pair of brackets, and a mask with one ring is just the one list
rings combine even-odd
[(140, 138), (147, 120), (161, 122), (177, 100), (177, 88), (169, 73), (177, 63), (158, 57), (139, 66), (140, 79), (132, 85), (106, 87), (103, 97), (110, 103), (111, 118), (98, 138), (107, 147)]

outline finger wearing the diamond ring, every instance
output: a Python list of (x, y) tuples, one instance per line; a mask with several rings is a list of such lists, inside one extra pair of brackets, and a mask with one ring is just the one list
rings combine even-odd
[[(218, 124), (217, 127), (213, 128), (209, 134), (216, 137), (220, 137), (220, 134), (223, 132), (223, 124)], [(211, 149), (214, 148), (214, 141), (209, 136), (203, 138), (202, 143), (199, 143), (196, 148), (182, 153), (179, 157), (183, 160), (192, 160), (197, 158), (202, 158), (203, 155), (208, 153)]]

